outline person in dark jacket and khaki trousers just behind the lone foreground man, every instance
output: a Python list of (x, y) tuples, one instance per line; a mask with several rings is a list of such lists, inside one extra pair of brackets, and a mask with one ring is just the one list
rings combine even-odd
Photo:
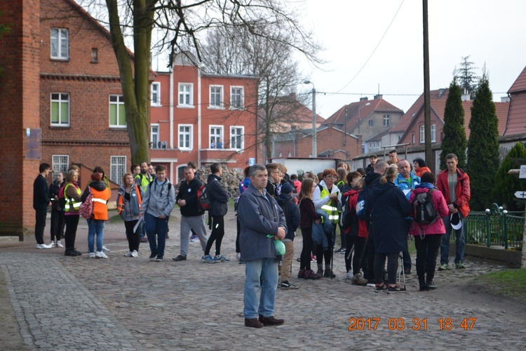
[(299, 225), (299, 208), (292, 200), (292, 192), (294, 192), (294, 187), (289, 183), (284, 183), (281, 185), (281, 194), (278, 195), (278, 204), (285, 213), (285, 222), (288, 229), (287, 235), (283, 239), (285, 256), (283, 256), (283, 263), (281, 264), (281, 289), (297, 289), (297, 286), (288, 282), (292, 267), (292, 257), (294, 256), (294, 237)]

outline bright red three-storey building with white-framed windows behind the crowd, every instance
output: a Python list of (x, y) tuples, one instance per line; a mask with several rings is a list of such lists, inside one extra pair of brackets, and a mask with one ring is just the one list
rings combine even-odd
[(257, 159), (258, 79), (207, 74), (195, 62), (178, 53), (151, 84), (151, 162), (165, 164), (173, 183), (189, 161), (243, 171)]

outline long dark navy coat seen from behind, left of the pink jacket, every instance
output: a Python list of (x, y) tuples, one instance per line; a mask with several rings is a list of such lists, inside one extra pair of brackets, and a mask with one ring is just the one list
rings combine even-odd
[[(407, 251), (410, 222), (405, 220), (412, 210), (409, 200), (391, 182), (372, 187), (367, 204), (372, 239), (377, 253)], [(367, 211), (367, 209), (366, 209)]]

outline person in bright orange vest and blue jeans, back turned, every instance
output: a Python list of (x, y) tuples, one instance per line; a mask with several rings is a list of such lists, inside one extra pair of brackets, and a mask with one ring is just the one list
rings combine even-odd
[[(88, 218), (88, 249), (90, 258), (108, 258), (102, 251), (102, 237), (104, 236), (104, 222), (108, 220), (108, 203), (111, 196), (106, 184), (101, 180), (99, 173), (91, 175), (91, 183), (82, 194), (81, 201), (85, 201), (91, 192), (93, 198), (93, 214)], [(94, 241), (97, 234), (97, 253), (95, 253)]]

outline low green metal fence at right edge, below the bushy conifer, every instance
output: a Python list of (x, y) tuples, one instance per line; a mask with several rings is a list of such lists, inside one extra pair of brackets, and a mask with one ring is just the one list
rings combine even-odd
[[(466, 218), (466, 244), (522, 249), (524, 212), (508, 212), (492, 204), (485, 212), (471, 211)], [(454, 240), (454, 235), (451, 236)]]

